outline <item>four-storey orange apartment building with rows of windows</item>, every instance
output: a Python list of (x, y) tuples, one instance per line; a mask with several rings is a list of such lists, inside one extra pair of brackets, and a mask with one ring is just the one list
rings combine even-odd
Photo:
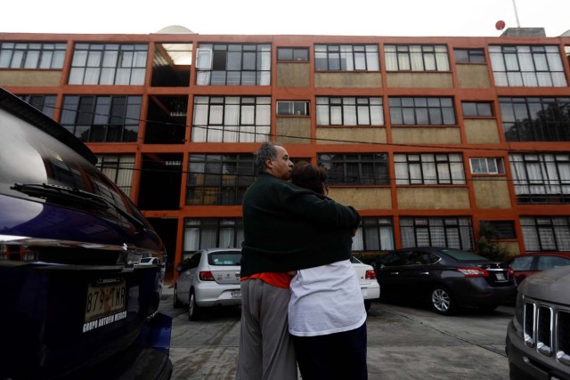
[(281, 142), (355, 206), (354, 252), (570, 251), (570, 36), (0, 33), (0, 86), (99, 158), (167, 243), (240, 247), (253, 152)]

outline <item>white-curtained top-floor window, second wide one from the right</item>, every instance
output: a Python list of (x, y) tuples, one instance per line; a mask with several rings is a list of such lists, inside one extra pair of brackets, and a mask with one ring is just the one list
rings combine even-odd
[(384, 46), (387, 71), (449, 71), (444, 44), (387, 44)]

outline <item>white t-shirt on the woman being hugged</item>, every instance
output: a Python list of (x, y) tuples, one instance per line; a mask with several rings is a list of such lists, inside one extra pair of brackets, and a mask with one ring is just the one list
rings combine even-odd
[(366, 321), (362, 291), (350, 260), (297, 271), (291, 279), (289, 333), (325, 336)]

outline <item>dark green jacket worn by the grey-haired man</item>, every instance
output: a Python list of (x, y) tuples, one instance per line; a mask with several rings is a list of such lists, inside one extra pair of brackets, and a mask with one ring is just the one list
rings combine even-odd
[(241, 276), (346, 260), (360, 222), (352, 206), (259, 174), (243, 199)]

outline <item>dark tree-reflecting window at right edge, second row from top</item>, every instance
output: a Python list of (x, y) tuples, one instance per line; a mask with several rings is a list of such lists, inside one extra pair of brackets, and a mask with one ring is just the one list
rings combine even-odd
[(570, 141), (570, 98), (499, 98), (507, 141)]

